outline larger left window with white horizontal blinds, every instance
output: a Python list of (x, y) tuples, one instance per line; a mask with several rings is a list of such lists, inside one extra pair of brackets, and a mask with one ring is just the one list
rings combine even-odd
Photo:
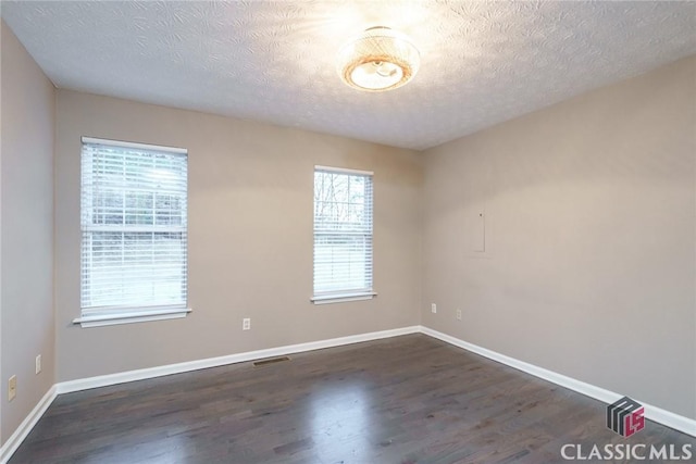
[(83, 138), (83, 327), (183, 317), (187, 152)]

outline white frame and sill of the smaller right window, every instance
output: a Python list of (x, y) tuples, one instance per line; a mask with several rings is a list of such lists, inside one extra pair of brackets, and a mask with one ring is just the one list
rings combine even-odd
[[(344, 175), (352, 175), (352, 176), (360, 176), (360, 177), (366, 177), (370, 181), (370, 188), (369, 188), (369, 192), (370, 192), (370, 197), (366, 199), (366, 208), (369, 208), (370, 211), (370, 220), (369, 220), (369, 235), (370, 235), (370, 252), (369, 252), (369, 256), (370, 256), (370, 262), (369, 262), (369, 267), (370, 267), (370, 286), (362, 288), (362, 289), (341, 289), (341, 290), (336, 290), (336, 291), (316, 291), (316, 235), (318, 235), (318, 228), (316, 228), (316, 204), (315, 204), (315, 199), (316, 199), (316, 184), (315, 184), (315, 179), (316, 179), (316, 173), (318, 172), (323, 172), (323, 173), (330, 173), (330, 174), (344, 174)], [(312, 228), (312, 236), (313, 236), (313, 243), (312, 243), (312, 298), (310, 298), (310, 301), (314, 304), (330, 304), (330, 303), (343, 303), (343, 302), (349, 302), (349, 301), (360, 301), (360, 300), (371, 300), (373, 298), (375, 298), (377, 296), (377, 292), (374, 290), (374, 172), (372, 171), (360, 171), (360, 170), (350, 170), (350, 168), (345, 168), (345, 167), (334, 167), (334, 166), (323, 166), (323, 165), (315, 165), (314, 170), (312, 172), (313, 174), (313, 185), (312, 185), (312, 192), (313, 192), (313, 213), (312, 213), (312, 224), (313, 224), (313, 228)], [(331, 235), (330, 231), (323, 230), (321, 233), (322, 235), (326, 236), (326, 235)], [(347, 234), (340, 234), (340, 233), (335, 233), (333, 234), (334, 236), (346, 236)], [(368, 265), (368, 262), (365, 262), (365, 265)]]

